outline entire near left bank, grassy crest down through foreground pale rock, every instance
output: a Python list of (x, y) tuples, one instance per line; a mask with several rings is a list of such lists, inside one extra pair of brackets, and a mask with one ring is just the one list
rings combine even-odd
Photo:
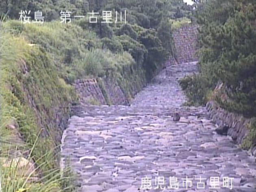
[(0, 38), (1, 187), (59, 190), (65, 179), (57, 179), (56, 159), (71, 103), (77, 100), (74, 87), (59, 77), (40, 46), (9, 33)]

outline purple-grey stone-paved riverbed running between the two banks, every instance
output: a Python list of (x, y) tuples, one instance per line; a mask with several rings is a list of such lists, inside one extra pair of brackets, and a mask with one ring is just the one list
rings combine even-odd
[(254, 158), (216, 134), (204, 107), (182, 107), (177, 80), (196, 71), (170, 66), (130, 106), (83, 106), (69, 119), (62, 166), (69, 158), (80, 191), (256, 192)]

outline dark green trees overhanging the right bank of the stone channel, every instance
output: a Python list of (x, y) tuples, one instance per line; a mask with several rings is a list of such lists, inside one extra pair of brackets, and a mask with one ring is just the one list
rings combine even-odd
[[(256, 4), (251, 0), (211, 0), (198, 4), (200, 74), (180, 81), (189, 104), (205, 105), (209, 98), (228, 111), (256, 117)], [(223, 88), (215, 90), (218, 82)], [(256, 143), (256, 125), (243, 147)]]

